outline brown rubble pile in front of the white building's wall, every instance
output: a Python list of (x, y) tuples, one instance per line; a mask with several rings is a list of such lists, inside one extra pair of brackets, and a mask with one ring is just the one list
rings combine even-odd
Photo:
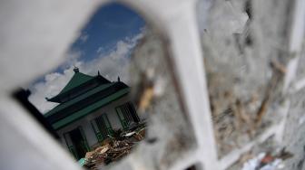
[(97, 169), (99, 165), (108, 165), (118, 161), (131, 153), (132, 148), (144, 137), (145, 125), (131, 126), (126, 131), (117, 130), (113, 133), (113, 137), (104, 140), (101, 146), (87, 152), (82, 158), (83, 164), (81, 165), (88, 169)]

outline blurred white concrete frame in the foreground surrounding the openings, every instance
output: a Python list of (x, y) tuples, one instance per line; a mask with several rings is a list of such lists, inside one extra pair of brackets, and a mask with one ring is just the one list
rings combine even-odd
[[(100, 5), (107, 0), (5, 0), (0, 3), (0, 165), (4, 169), (75, 170), (81, 169), (53, 138), (25, 113), (10, 94), (16, 87), (64, 59), (64, 52)], [(111, 1), (113, 2), (113, 1)], [(179, 77), (183, 102), (195, 131), (197, 149), (186, 153), (171, 169), (199, 164), (203, 169), (225, 169), (241, 154), (271, 135), (280, 140), (285, 118), (257, 140), (217, 158), (211, 110), (196, 20), (196, 0), (121, 0), (143, 14), (170, 42), (172, 64)], [(305, 3), (296, 0), (290, 35), (289, 74), (284, 91), (294, 80), (304, 31)], [(192, 83), (188, 83), (192, 82)], [(298, 84), (298, 83), (297, 83)], [(300, 84), (300, 83), (299, 83)], [(304, 83), (303, 83), (304, 84)], [(302, 85), (304, 86), (304, 85)], [(283, 109), (287, 114), (289, 102)], [(285, 109), (286, 108), (286, 109)], [(132, 160), (131, 160), (132, 161)], [(136, 169), (136, 168), (133, 168)], [(199, 168), (200, 169), (200, 168)]]

